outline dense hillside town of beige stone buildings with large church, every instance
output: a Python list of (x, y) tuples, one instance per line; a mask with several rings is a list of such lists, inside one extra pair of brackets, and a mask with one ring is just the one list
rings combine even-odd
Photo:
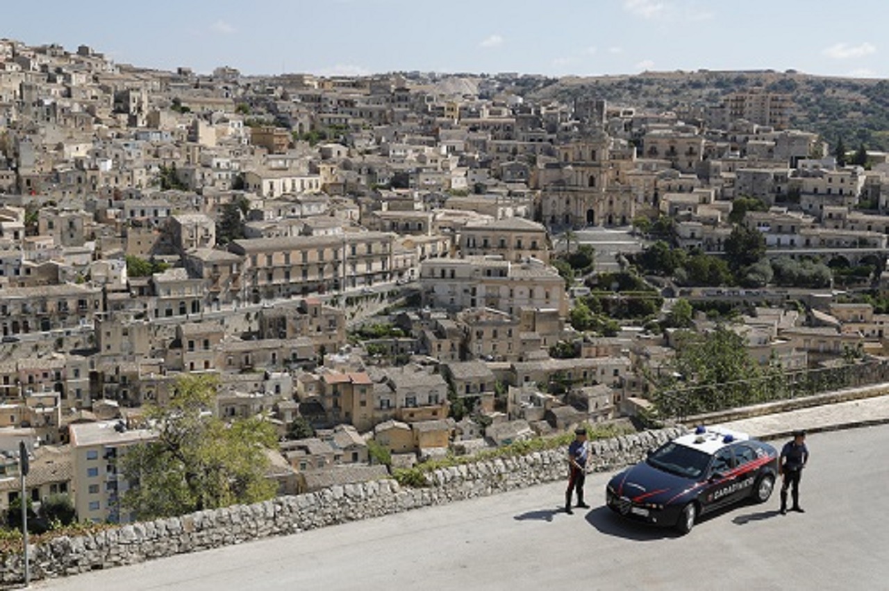
[(292, 494), (384, 477), (374, 448), (645, 421), (688, 331), (781, 371), (880, 358), (889, 154), (762, 88), (647, 112), (542, 83), (0, 39), (0, 510), (24, 441), (30, 500), (129, 521), (114, 460), (185, 374), (274, 426)]

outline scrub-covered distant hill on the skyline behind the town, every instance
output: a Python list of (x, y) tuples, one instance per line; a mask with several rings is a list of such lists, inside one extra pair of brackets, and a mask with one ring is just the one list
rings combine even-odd
[(838, 78), (787, 72), (645, 72), (639, 75), (565, 77), (541, 83), (529, 98), (571, 101), (581, 95), (621, 106), (676, 110), (717, 105), (733, 91), (763, 87), (792, 95), (794, 128), (821, 134), (831, 146), (889, 150), (889, 81)]

